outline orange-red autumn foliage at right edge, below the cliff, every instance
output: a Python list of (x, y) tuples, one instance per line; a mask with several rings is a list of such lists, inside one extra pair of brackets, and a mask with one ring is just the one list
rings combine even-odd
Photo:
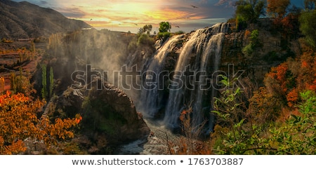
[(268, 93), (279, 97), (284, 102), (282, 106), (287, 104), (289, 108), (293, 109), (300, 102), (299, 93), (305, 90), (316, 91), (315, 52), (306, 46), (302, 47), (301, 55), (297, 58), (289, 58), (277, 67), (272, 67), (264, 80)]

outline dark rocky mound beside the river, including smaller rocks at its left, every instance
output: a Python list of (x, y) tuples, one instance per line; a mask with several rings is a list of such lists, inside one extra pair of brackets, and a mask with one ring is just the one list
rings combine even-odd
[(51, 118), (81, 114), (83, 119), (74, 142), (89, 154), (112, 154), (109, 149), (136, 140), (146, 142), (150, 134), (131, 98), (108, 83), (103, 84), (103, 90), (68, 88), (52, 102), (55, 108), (49, 114)]

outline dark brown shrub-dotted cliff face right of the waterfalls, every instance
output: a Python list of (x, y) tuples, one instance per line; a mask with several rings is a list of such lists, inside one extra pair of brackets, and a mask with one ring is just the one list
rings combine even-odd
[[(263, 19), (256, 24), (251, 24), (241, 32), (233, 32), (235, 24), (230, 24), (230, 32), (225, 34), (223, 51), (220, 60), (220, 69), (228, 72), (228, 65), (234, 65), (235, 72), (244, 70), (244, 76), (256, 81), (263, 86), (265, 74), (287, 60), (300, 53), (297, 39), (284, 39), (282, 34), (274, 32), (272, 20)], [(245, 55), (242, 50), (250, 43), (250, 32), (258, 29), (259, 46), (254, 48), (251, 55)]]

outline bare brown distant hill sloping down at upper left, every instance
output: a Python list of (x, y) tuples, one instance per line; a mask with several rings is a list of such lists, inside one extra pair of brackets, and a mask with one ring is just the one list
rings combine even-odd
[(0, 39), (37, 38), (88, 27), (86, 22), (68, 19), (51, 8), (0, 0)]

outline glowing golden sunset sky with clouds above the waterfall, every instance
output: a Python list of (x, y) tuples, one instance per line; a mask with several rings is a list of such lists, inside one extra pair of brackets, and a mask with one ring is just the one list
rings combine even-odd
[[(25, 1), (25, 0), (15, 0)], [(236, 0), (26, 0), (53, 8), (67, 18), (83, 20), (96, 29), (131, 31), (152, 25), (158, 32), (159, 22), (170, 22), (171, 32), (190, 32), (226, 22), (235, 13)], [(291, 0), (303, 6), (303, 0)]]

